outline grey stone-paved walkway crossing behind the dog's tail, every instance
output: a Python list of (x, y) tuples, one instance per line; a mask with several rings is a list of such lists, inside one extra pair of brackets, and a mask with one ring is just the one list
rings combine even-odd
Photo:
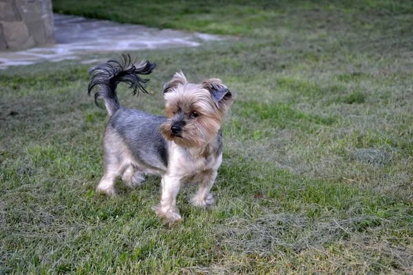
[[(195, 47), (204, 41), (220, 40), (219, 36), (211, 34), (159, 30), (144, 25), (120, 24), (63, 14), (54, 14), (54, 34), (56, 45), (20, 52), (0, 52), (0, 69), (43, 61), (78, 59), (81, 55), (96, 52)], [(96, 60), (81, 62), (95, 63)]]

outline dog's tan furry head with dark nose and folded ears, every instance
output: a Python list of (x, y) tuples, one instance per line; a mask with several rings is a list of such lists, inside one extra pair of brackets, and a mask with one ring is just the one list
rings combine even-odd
[(213, 140), (233, 102), (231, 91), (218, 78), (188, 83), (177, 72), (162, 94), (169, 119), (160, 126), (166, 140), (182, 147), (199, 147)]

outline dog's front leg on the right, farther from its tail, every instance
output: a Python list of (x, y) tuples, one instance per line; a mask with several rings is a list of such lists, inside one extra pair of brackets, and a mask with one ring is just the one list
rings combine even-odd
[(191, 199), (193, 206), (205, 207), (213, 205), (215, 199), (213, 199), (213, 196), (209, 191), (211, 190), (217, 175), (218, 172), (216, 170), (207, 170), (201, 173), (198, 192)]

